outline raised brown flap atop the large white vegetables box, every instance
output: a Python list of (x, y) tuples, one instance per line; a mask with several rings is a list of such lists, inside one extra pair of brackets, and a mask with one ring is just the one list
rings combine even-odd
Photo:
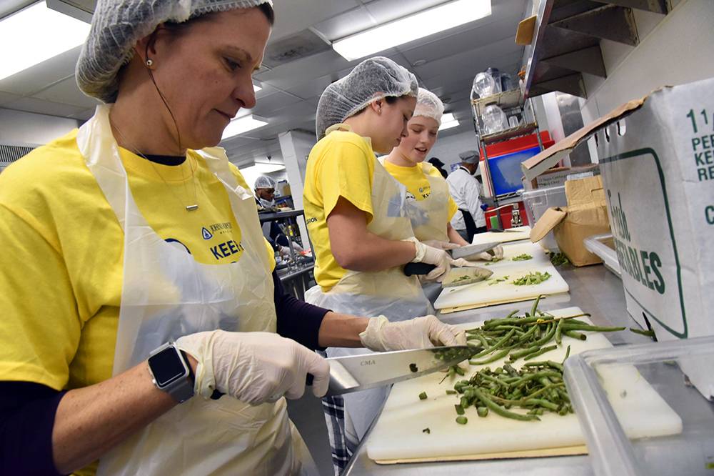
[[(655, 89), (655, 91), (658, 90), (659, 89)], [(650, 94), (647, 94), (640, 99), (633, 99), (633, 101), (622, 104), (617, 109), (610, 112), (610, 114), (600, 117), (597, 121), (591, 122), (590, 124), (573, 132), (573, 134), (570, 134), (568, 137), (565, 137), (565, 139), (556, 142), (552, 147), (548, 147), (548, 149), (545, 149), (539, 154), (536, 154), (530, 159), (522, 162), (521, 170), (523, 170), (523, 176), (526, 177), (526, 180), (528, 181), (535, 179), (535, 177), (538, 177), (538, 175), (550, 169), (550, 167), (558, 164), (558, 162), (560, 162), (560, 160), (562, 160), (566, 155), (570, 154), (570, 152), (572, 152), (573, 149), (580, 144), (580, 142), (589, 139), (590, 136), (595, 134), (595, 132), (598, 132), (598, 129), (613, 124), (614, 122), (617, 122), (623, 117), (628, 116), (634, 111), (640, 109), (640, 107), (645, 104), (645, 101)]]

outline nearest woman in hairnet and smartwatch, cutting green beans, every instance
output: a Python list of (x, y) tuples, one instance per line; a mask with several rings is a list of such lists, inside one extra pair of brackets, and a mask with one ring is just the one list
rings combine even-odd
[(314, 473), (283, 398), (308, 373), (325, 394), (313, 349), (456, 338), (284, 294), (213, 147), (272, 23), (270, 0), (99, 0), (76, 77), (106, 104), (0, 177), (0, 472)]

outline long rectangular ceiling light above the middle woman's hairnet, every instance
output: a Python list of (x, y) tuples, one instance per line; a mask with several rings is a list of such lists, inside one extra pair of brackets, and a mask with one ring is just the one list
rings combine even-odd
[(333, 42), (348, 61), (491, 15), (491, 0), (455, 0)]

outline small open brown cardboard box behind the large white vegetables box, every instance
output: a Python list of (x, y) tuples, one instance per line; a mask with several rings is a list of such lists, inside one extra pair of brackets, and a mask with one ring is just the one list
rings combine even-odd
[(568, 180), (565, 182), (565, 198), (568, 200), (567, 207), (545, 210), (531, 229), (531, 241), (539, 242), (553, 230), (560, 252), (575, 266), (603, 262), (585, 249), (583, 244), (583, 240), (593, 234), (610, 232), (608, 207), (600, 176)]

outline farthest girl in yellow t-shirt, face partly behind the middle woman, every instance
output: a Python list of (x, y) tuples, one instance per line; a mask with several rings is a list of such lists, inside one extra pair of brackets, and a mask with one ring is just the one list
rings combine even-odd
[[(458, 207), (441, 172), (424, 162), (436, 143), (443, 111), (443, 103), (436, 94), (419, 88), (416, 108), (407, 124), (407, 136), (380, 162), (407, 189), (406, 212), (416, 239), (433, 247), (456, 249), (469, 244), (451, 227), (450, 220)], [(502, 257), (503, 248), (496, 247), (494, 254)], [(490, 261), (494, 254), (480, 253), (468, 259)], [(466, 259), (455, 260), (455, 264), (476, 266)], [(441, 285), (427, 282), (424, 292), (430, 299), (436, 299)]]

